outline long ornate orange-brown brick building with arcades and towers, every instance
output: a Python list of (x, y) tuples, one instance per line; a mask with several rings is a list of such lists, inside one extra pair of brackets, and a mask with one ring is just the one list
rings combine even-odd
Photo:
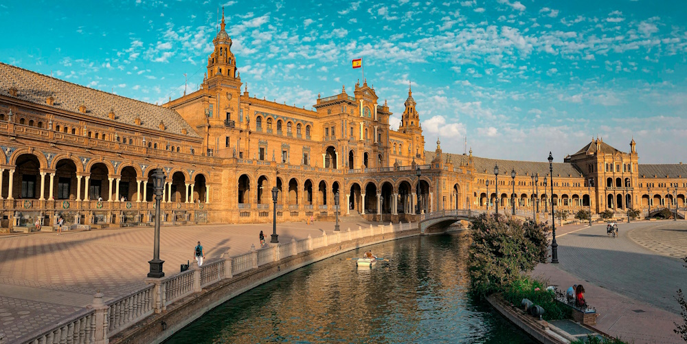
[(168, 224), (271, 221), (273, 187), (280, 221), (333, 218), (337, 192), (343, 215), (394, 222), (417, 203), (485, 209), (499, 199), (510, 209), (513, 187), (519, 214), (537, 200), (570, 211), (685, 206), (687, 167), (639, 164), (634, 141), (624, 153), (592, 140), (554, 163), (549, 195), (548, 163), (442, 153), (439, 141), (425, 151), (410, 89), (398, 130), (366, 80), (350, 95), (318, 95), (314, 111), (278, 104), (241, 81), (224, 19), (213, 43), (201, 88), (163, 106), (0, 63), (2, 227), (49, 228), (57, 216), (73, 226), (150, 223), (155, 168), (167, 176)]

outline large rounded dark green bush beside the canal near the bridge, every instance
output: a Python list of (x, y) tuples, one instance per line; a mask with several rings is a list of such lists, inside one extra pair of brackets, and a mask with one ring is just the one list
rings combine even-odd
[(486, 214), (471, 226), (469, 272), (472, 291), (480, 296), (502, 291), (548, 256), (544, 225)]

